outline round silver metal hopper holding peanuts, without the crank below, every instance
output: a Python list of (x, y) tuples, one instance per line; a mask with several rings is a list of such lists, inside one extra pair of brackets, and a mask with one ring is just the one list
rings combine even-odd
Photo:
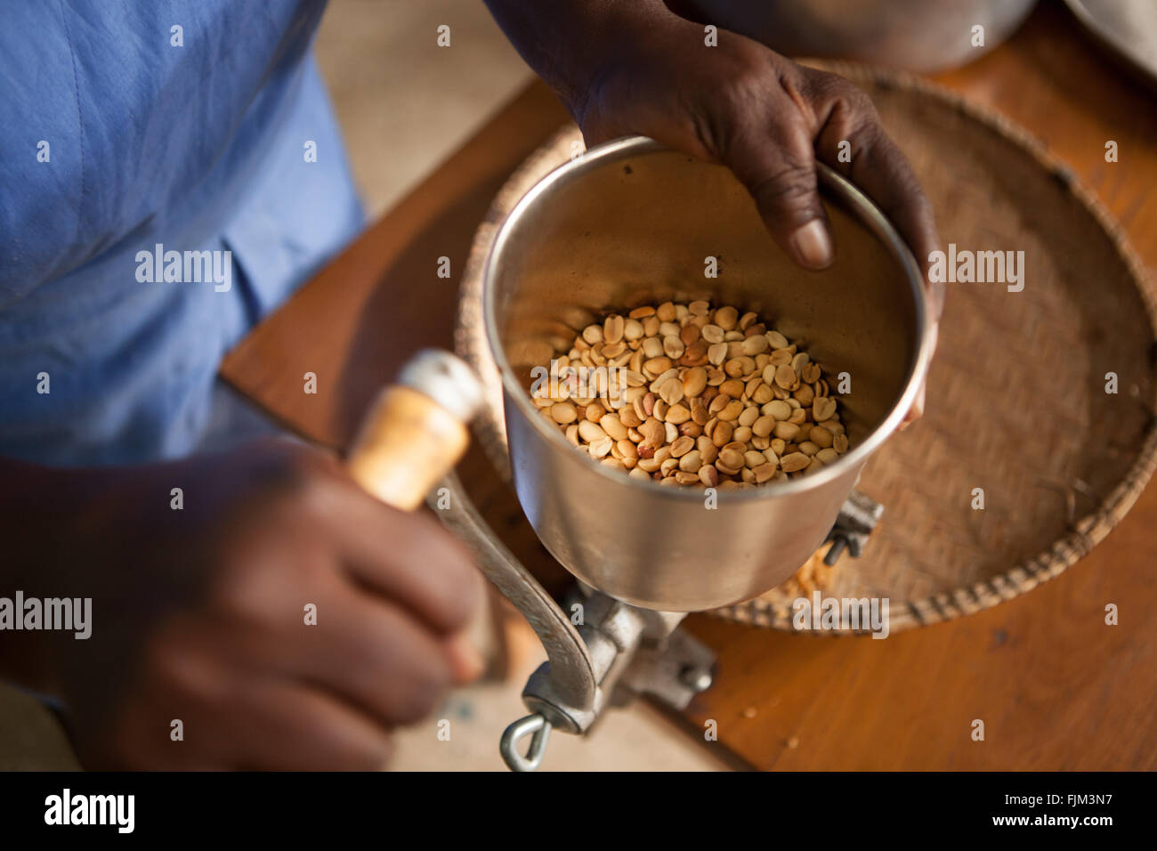
[[(558, 168), (499, 227), (482, 270), (519, 502), (551, 553), (589, 586), (663, 611), (732, 604), (781, 584), (823, 543), (864, 463), (899, 426), (931, 355), (920, 267), (892, 225), (820, 167), (837, 243), (823, 272), (767, 235), (734, 175), (641, 137)], [(705, 277), (717, 258), (718, 276)], [(531, 403), (530, 369), (611, 309), (708, 299), (757, 310), (846, 372), (853, 448), (769, 487), (662, 487), (592, 464)]]

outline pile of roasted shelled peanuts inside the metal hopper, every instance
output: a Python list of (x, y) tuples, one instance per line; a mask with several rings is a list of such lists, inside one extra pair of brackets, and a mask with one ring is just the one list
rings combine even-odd
[(664, 302), (611, 314), (548, 371), (531, 393), (543, 416), (580, 452), (635, 478), (747, 489), (815, 472), (848, 450), (825, 371), (734, 307)]

